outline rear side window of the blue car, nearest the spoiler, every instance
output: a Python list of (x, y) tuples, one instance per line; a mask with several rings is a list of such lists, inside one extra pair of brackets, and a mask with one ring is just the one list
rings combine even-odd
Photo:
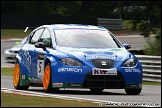
[(39, 39), (40, 35), (42, 34), (43, 30), (44, 29), (41, 28), (41, 29), (35, 31), (35, 33), (33, 34), (33, 37), (30, 40), (30, 43), (35, 44), (36, 42), (38, 42), (38, 39)]

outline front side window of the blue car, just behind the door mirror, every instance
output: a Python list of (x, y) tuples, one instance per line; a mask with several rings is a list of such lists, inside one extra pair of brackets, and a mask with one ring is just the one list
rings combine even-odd
[(46, 28), (41, 36), (41, 38), (38, 40), (40, 42), (43, 42), (46, 47), (52, 46), (51, 36), (49, 30)]

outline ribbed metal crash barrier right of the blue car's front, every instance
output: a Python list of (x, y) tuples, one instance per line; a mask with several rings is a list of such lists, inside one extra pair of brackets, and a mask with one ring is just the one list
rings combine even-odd
[(143, 81), (161, 82), (161, 56), (136, 55), (143, 67)]

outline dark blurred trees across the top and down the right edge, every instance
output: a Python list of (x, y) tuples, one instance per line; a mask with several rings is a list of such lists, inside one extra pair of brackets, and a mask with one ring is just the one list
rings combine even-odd
[[(161, 55), (161, 1), (1, 1), (1, 14), (58, 14), (129, 20), (131, 30), (142, 31), (149, 44), (145, 53)], [(150, 34), (156, 35), (154, 42), (150, 41)]]

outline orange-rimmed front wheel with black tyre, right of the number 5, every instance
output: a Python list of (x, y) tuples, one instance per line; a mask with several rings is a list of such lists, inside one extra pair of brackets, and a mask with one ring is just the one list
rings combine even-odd
[(58, 92), (59, 88), (52, 88), (52, 72), (51, 64), (48, 63), (44, 70), (43, 76), (43, 89), (46, 93)]

